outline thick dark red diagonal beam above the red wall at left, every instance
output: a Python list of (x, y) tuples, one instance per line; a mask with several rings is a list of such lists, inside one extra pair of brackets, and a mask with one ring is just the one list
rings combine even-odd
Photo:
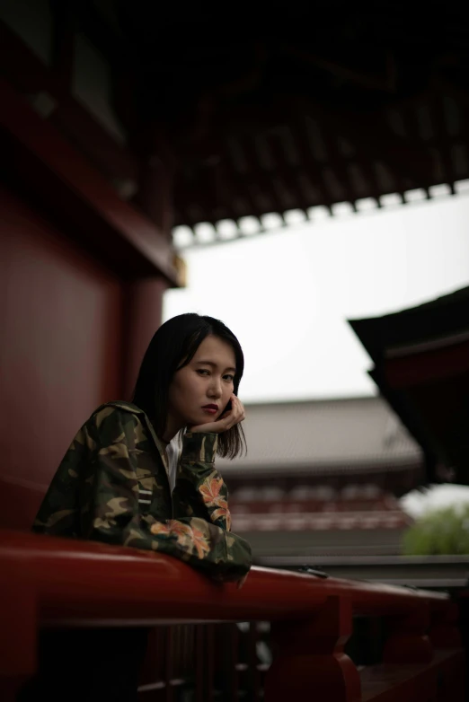
[(164, 276), (178, 285), (173, 248), (47, 120), (0, 79), (4, 173), (120, 276)]

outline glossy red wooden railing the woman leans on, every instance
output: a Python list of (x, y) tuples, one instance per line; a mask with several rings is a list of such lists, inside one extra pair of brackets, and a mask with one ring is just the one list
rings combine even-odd
[[(354, 615), (385, 618), (381, 663), (361, 668), (344, 654)], [(166, 651), (166, 670), (155, 669), (153, 681), (146, 671), (144, 699), (165, 687), (164, 699), (173, 699), (169, 688), (178, 684), (178, 670), (195, 664), (195, 699), (208, 702), (221, 664), (217, 636), (231, 646), (223, 664), (233, 684), (222, 699), (237, 698), (234, 671), (239, 680), (250, 667), (251, 698), (261, 698), (264, 688), (267, 702), (464, 698), (457, 607), (443, 593), (257, 567), (237, 590), (157, 553), (1, 531), (0, 617), (5, 702), (36, 670), (41, 627), (116, 625), (155, 627), (153, 645)], [(243, 663), (236, 659), (238, 629), (221, 622), (271, 623), (275, 656), (268, 671), (255, 663), (258, 627), (250, 629)]]

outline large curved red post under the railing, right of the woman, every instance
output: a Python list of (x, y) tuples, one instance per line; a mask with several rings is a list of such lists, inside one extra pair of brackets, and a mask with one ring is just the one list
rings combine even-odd
[(329, 597), (313, 619), (273, 626), (279, 655), (266, 676), (266, 702), (358, 702), (358, 671), (343, 653), (351, 632), (350, 601), (336, 596)]

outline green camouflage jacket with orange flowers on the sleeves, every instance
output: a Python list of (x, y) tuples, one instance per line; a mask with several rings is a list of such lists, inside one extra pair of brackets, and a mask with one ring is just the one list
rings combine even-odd
[(237, 580), (251, 548), (230, 531), (216, 452), (217, 434), (184, 434), (172, 495), (164, 443), (146, 414), (127, 402), (102, 405), (75, 435), (32, 529), (159, 551)]

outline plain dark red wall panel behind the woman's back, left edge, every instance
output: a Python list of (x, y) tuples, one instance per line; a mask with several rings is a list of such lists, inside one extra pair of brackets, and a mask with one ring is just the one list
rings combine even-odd
[(0, 526), (27, 528), (68, 444), (122, 396), (119, 280), (0, 186)]

